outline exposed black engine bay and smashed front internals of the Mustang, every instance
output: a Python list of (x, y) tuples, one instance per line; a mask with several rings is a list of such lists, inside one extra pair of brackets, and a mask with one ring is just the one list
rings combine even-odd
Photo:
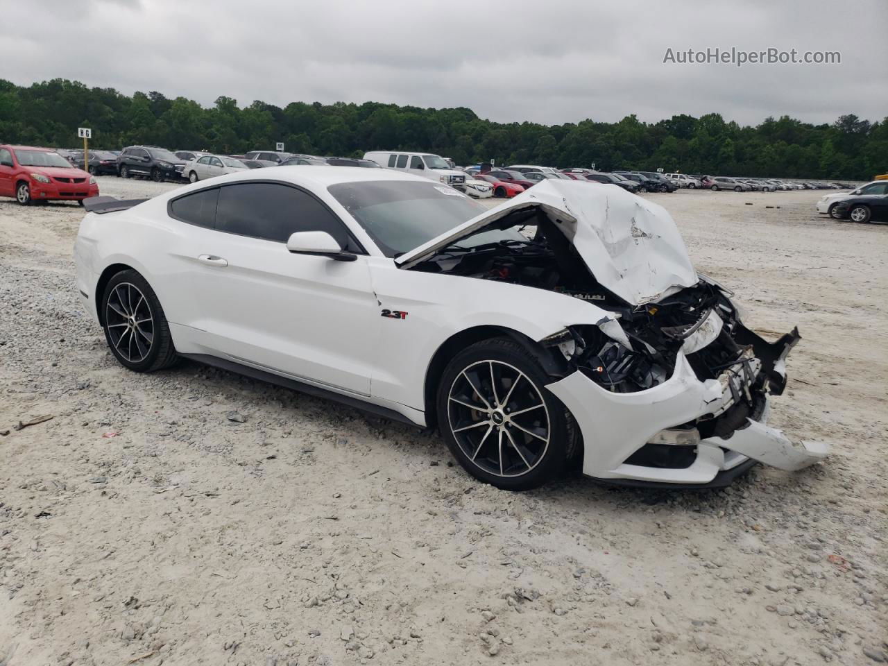
[[(546, 289), (614, 313), (620, 335), (583, 325), (542, 341), (558, 350), (566, 372), (578, 369), (610, 392), (639, 392), (662, 385), (682, 351), (699, 380), (716, 379), (733, 396), (727, 407), (687, 424), (698, 428), (702, 437), (730, 435), (747, 416), (757, 414), (766, 392), (783, 391), (782, 361), (799, 339), (797, 330), (768, 343), (743, 326), (731, 292), (705, 277), (655, 302), (627, 303), (595, 279), (557, 221), (540, 210), (517, 215), (523, 218), (519, 229), (526, 240), (473, 245), (469, 236), (443, 248), (415, 270)], [(500, 220), (496, 227), (515, 225), (515, 217)], [(477, 233), (489, 230), (484, 227)]]

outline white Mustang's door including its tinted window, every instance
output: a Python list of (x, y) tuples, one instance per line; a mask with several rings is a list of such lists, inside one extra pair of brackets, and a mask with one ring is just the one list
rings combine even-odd
[[(357, 257), (292, 254), (297, 231), (325, 231)], [(313, 194), (272, 181), (220, 187), (215, 232), (194, 260), (191, 325), (210, 353), (369, 395), (379, 308), (367, 256)]]

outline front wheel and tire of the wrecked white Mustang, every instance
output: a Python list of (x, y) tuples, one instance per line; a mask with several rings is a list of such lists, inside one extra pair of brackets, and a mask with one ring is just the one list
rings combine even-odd
[(438, 422), (466, 472), (503, 490), (538, 488), (575, 449), (573, 417), (523, 346), (497, 337), (465, 348), (438, 387)]

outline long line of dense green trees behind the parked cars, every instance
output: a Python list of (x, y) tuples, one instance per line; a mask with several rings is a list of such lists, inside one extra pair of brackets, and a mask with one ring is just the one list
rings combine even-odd
[(870, 123), (842, 115), (813, 125), (783, 115), (755, 127), (720, 114), (673, 115), (642, 123), (543, 125), (494, 123), (471, 109), (364, 102), (254, 101), (219, 97), (212, 107), (161, 92), (124, 95), (113, 88), (53, 79), (19, 86), (0, 79), (0, 143), (76, 147), (77, 127), (92, 146), (132, 144), (242, 154), (284, 142), (291, 153), (363, 155), (365, 150), (428, 151), (457, 164), (496, 160), (599, 170), (638, 169), (771, 178), (868, 180), (888, 171), (888, 117)]

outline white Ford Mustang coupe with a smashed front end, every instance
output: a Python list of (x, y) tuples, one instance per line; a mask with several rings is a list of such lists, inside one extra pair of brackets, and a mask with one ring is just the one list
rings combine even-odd
[[(274, 173), (272, 173), (274, 171)], [(279, 167), (86, 200), (78, 288), (126, 368), (177, 356), (419, 426), (473, 476), (725, 485), (827, 454), (768, 427), (768, 343), (662, 207), (544, 180), (492, 210), (392, 170)]]

